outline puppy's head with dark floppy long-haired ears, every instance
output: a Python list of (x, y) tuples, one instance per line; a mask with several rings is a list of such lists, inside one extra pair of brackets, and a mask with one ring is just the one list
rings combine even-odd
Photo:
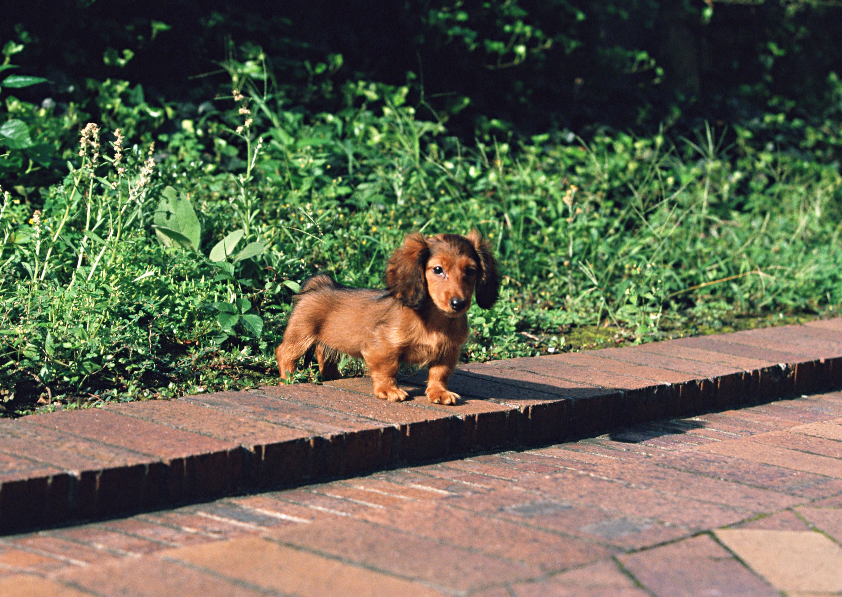
[(497, 262), (482, 236), (408, 235), (392, 253), (386, 267), (386, 287), (412, 309), (432, 302), (449, 317), (459, 317), (477, 304), (489, 309), (497, 300), (500, 280)]

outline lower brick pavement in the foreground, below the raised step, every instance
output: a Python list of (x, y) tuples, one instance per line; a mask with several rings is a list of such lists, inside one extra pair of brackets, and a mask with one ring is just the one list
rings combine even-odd
[(2, 595), (839, 595), (842, 392), (0, 537)]

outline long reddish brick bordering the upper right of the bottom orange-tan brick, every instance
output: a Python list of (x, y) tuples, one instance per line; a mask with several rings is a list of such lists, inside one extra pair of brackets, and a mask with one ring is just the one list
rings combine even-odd
[(271, 536), (288, 546), (450, 590), (478, 589), (487, 585), (488, 579), (497, 582), (526, 579), (540, 571), (534, 565), (510, 562), (349, 518), (288, 527), (272, 531)]

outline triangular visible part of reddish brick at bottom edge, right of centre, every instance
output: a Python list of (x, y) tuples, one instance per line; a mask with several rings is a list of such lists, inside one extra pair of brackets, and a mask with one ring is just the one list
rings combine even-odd
[(610, 560), (556, 574), (548, 579), (514, 584), (515, 597), (646, 597), (648, 593)]

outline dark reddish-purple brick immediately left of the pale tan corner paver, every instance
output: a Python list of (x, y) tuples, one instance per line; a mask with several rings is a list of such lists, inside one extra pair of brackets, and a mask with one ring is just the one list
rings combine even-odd
[(653, 594), (722, 594), (777, 597), (779, 594), (749, 572), (710, 536), (618, 557), (621, 564)]

